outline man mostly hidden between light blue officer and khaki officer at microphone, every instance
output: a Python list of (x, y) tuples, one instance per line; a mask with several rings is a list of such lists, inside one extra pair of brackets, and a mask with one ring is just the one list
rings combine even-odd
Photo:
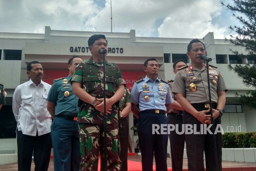
[[(173, 72), (176, 74), (178, 69), (186, 66), (186, 62), (182, 59), (178, 59), (173, 63)], [(183, 165), (183, 153), (185, 145), (185, 135), (182, 133), (182, 113), (183, 108), (176, 101), (175, 95), (172, 93), (173, 80), (168, 81), (169, 90), (171, 92), (173, 103), (171, 104), (171, 109), (167, 113), (168, 124), (175, 125), (175, 130), (170, 131), (169, 139), (171, 144), (171, 169), (173, 171), (182, 171)], [(176, 132), (178, 129), (179, 134)]]

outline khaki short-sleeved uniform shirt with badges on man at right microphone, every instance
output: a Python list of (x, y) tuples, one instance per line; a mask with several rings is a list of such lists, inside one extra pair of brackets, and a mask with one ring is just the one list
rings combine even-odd
[[(223, 76), (217, 68), (209, 67), (209, 79), (212, 103), (218, 102), (217, 93), (228, 91)], [(209, 103), (206, 64), (201, 70), (192, 64), (181, 68), (174, 80), (173, 93), (182, 93), (188, 101), (193, 103)]]

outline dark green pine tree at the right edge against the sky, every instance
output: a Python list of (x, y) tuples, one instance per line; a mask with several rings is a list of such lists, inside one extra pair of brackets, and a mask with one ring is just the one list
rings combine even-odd
[[(233, 0), (233, 5), (221, 2), (232, 12), (234, 18), (239, 20), (241, 26), (229, 26), (230, 32), (235, 32), (236, 36), (230, 35), (230, 39), (225, 38), (226, 42), (235, 46), (242, 46), (246, 54), (231, 50), (240, 58), (247, 58), (254, 62), (254, 65), (228, 65), (229, 70), (233, 70), (247, 87), (256, 88), (256, 0)], [(246, 94), (235, 94), (238, 101), (251, 108), (256, 108), (256, 90), (249, 90)]]

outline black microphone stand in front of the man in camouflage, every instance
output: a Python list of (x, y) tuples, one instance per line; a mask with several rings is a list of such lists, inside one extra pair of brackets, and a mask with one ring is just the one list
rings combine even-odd
[(106, 85), (105, 85), (105, 54), (103, 53), (103, 96), (104, 96), (104, 113), (103, 113), (103, 129), (104, 129), (104, 169), (107, 170), (107, 117), (106, 117)]

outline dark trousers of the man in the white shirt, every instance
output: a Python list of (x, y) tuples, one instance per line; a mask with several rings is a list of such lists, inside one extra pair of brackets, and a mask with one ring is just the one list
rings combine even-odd
[(30, 171), (32, 154), (34, 151), (35, 171), (47, 171), (51, 157), (51, 133), (41, 136), (25, 135), (17, 132), (18, 170)]

